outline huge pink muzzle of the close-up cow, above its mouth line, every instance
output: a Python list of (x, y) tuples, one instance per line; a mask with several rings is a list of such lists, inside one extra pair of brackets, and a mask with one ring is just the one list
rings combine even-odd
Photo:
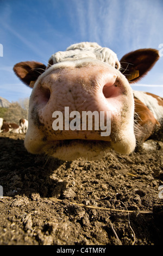
[[(131, 146), (129, 143), (135, 141), (134, 99), (126, 78), (101, 62), (59, 65), (47, 69), (33, 88), (26, 148), (33, 147), (32, 152), (36, 153), (40, 148), (46, 151), (51, 145), (55, 151), (53, 145), (56, 143), (89, 140), (110, 143), (120, 153), (131, 152), (135, 147), (134, 143)], [(92, 126), (87, 117), (83, 125), (85, 113), (92, 114)], [(30, 137), (30, 130), (32, 133), (35, 129), (37, 145)], [(110, 129), (110, 133), (106, 131), (103, 136), (101, 130), (104, 129)]]

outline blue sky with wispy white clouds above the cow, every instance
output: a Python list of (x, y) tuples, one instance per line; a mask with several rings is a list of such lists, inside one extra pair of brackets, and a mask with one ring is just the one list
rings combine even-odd
[[(53, 53), (76, 42), (97, 42), (119, 59), (138, 48), (161, 50), (162, 14), (162, 0), (0, 0), (0, 96), (10, 102), (30, 96), (12, 71), (16, 63), (47, 64)], [(133, 89), (163, 97), (162, 71), (160, 57)]]

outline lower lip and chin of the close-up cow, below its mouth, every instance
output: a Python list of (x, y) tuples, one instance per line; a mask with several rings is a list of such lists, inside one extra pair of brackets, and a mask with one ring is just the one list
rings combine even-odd
[(30, 125), (24, 145), (29, 153), (45, 154), (63, 161), (73, 161), (83, 157), (97, 160), (106, 156), (112, 149), (116, 153), (130, 154), (135, 149), (134, 133), (126, 132), (116, 136), (115, 141), (96, 141), (88, 139), (46, 140), (39, 129)]

